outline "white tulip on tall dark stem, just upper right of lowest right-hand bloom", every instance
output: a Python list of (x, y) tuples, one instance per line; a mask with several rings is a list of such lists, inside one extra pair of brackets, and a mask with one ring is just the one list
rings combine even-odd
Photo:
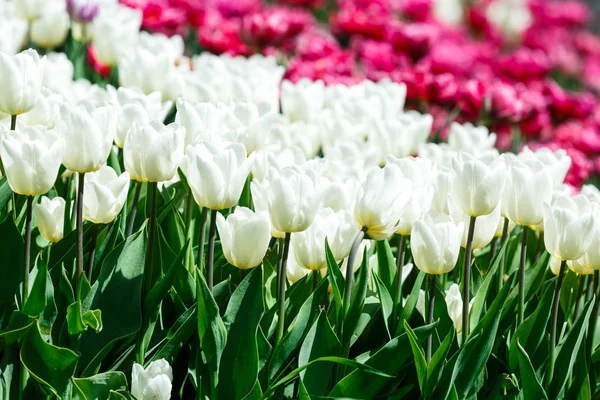
[(491, 213), (502, 196), (506, 166), (501, 159), (474, 158), (460, 153), (452, 159), (452, 197), (470, 217)]

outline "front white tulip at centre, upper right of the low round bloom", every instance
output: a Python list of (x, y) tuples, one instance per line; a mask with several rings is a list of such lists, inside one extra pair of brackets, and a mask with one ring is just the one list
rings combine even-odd
[(302, 232), (312, 224), (320, 197), (317, 177), (289, 167), (272, 170), (267, 191), (267, 205), (273, 226), (281, 232)]

